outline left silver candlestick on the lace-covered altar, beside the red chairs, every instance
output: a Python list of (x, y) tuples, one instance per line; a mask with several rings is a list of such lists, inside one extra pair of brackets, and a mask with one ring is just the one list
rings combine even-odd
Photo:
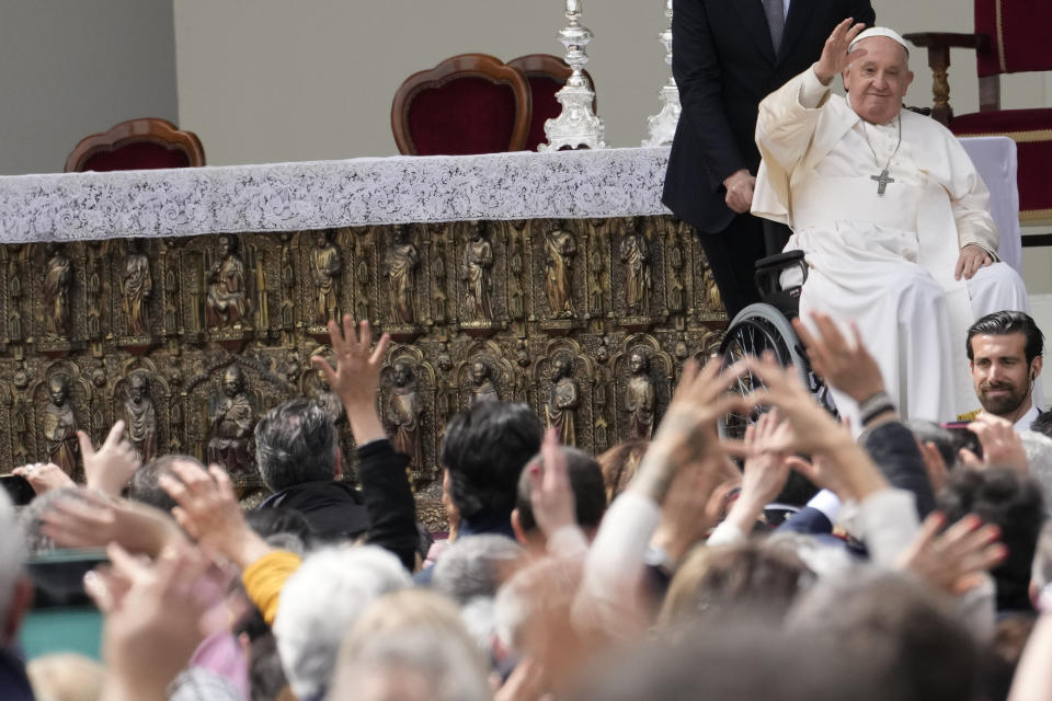
[(603, 119), (592, 112), (595, 91), (582, 72), (582, 68), (588, 62), (584, 47), (592, 41), (592, 32), (581, 26), (579, 22), (581, 0), (565, 0), (565, 14), (570, 20), (570, 26), (559, 32), (559, 41), (567, 47), (567, 64), (573, 72), (567, 79), (567, 84), (556, 93), (556, 100), (562, 105), (562, 113), (554, 119), (545, 122), (545, 136), (548, 137), (548, 142), (538, 146), (538, 151), (558, 151), (567, 146), (606, 148)]

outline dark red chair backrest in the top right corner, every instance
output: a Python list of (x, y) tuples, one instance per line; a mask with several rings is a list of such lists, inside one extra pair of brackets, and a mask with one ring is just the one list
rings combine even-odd
[(975, 33), (990, 36), (990, 49), (977, 53), (980, 78), (1000, 73), (1052, 70), (1048, 0), (975, 0)]

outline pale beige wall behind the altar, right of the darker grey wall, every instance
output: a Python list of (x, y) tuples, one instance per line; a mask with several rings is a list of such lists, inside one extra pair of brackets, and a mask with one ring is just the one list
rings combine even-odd
[[(733, 0), (735, 2), (748, 0)], [(757, 1), (758, 0), (754, 0)], [(798, 0), (805, 2), (808, 0)], [(881, 24), (972, 31), (968, 0), (873, 0)], [(562, 0), (174, 0), (180, 122), (209, 163), (387, 156), (391, 97), (410, 73), (454, 54), (505, 60), (560, 54)], [(613, 146), (638, 146), (666, 77), (664, 0), (586, 0), (588, 70)], [(911, 104), (931, 102), (923, 51)], [(977, 107), (975, 59), (953, 54), (952, 104)], [(1040, 77), (1006, 81), (1006, 103), (1044, 104)]]

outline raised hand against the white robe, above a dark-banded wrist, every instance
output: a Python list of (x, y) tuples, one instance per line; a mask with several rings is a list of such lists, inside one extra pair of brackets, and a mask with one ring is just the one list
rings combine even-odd
[(884, 380), (880, 376), (880, 367), (862, 345), (858, 326), (851, 322), (851, 332), (855, 343), (847, 338), (836, 327), (833, 318), (822, 312), (811, 314), (816, 333), (812, 334), (800, 319), (793, 319), (792, 327), (808, 349), (811, 367), (821, 375), (833, 388), (844, 392), (856, 402), (884, 391)]

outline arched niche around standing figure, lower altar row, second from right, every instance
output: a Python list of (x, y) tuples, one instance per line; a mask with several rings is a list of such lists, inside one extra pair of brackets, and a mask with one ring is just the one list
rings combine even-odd
[(569, 378), (576, 386), (576, 409), (573, 415), (574, 440), (572, 443), (564, 440), (563, 443), (592, 451), (595, 447), (595, 412), (592, 399), (597, 374), (595, 363), (582, 350), (581, 345), (572, 338), (550, 341), (545, 349), (545, 357), (534, 364), (533, 383), (536, 391), (534, 404), (537, 415), (540, 416), (546, 428), (551, 425), (551, 416), (548, 410), (549, 403), (552, 401), (551, 393), (557, 391), (552, 382), (557, 359), (569, 361)]

